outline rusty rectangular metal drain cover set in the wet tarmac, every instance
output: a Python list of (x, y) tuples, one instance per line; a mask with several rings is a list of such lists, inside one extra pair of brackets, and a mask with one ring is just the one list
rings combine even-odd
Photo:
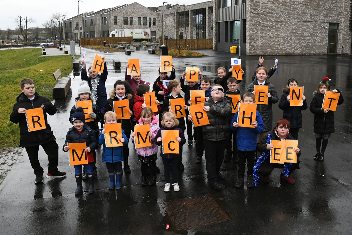
[(164, 205), (175, 231), (204, 227), (231, 219), (212, 194), (165, 202)]

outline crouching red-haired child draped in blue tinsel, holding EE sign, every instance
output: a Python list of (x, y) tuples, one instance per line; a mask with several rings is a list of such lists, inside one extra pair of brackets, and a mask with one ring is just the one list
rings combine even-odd
[(280, 178), (287, 181), (289, 184), (295, 184), (295, 180), (292, 179), (291, 174), (295, 169), (300, 169), (300, 161), (298, 159), (301, 156), (300, 148), (294, 148), (293, 151), (297, 155), (296, 163), (270, 163), (270, 149), (274, 148), (274, 144), (270, 143), (270, 140), (294, 140), (294, 138), (289, 134), (290, 122), (284, 118), (279, 119), (276, 123), (276, 128), (270, 131), (267, 135), (262, 138), (257, 144), (257, 150), (262, 154), (258, 157), (256, 164), (254, 165), (254, 185), (257, 186), (258, 172), (262, 175), (264, 182), (269, 183), (269, 175), (275, 168), (283, 168)]

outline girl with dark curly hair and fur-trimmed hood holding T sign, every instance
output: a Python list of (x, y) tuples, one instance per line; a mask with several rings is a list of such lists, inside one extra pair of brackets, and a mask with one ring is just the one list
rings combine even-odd
[[(114, 101), (119, 101), (119, 100), (128, 100), (128, 113), (125, 113), (124, 115), (129, 115), (129, 118), (127, 119), (118, 119), (117, 123), (121, 123), (122, 129), (125, 131), (125, 135), (127, 136), (127, 139), (130, 138), (131, 136), (131, 131), (132, 131), (132, 123), (133, 123), (133, 97), (134, 97), (134, 92), (130, 84), (126, 81), (121, 81), (117, 80), (114, 84), (114, 89), (110, 92), (109, 94), (110, 99), (106, 101), (105, 104), (105, 109), (104, 113), (108, 111), (121, 111), (122, 109), (117, 109), (114, 110)], [(125, 173), (130, 173), (131, 168), (128, 166), (128, 155), (130, 154), (130, 150), (128, 149), (128, 144), (124, 146), (124, 171)]]

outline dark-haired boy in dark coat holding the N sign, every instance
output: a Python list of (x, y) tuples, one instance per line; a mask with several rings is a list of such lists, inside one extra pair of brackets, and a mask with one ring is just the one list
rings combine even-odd
[(303, 102), (302, 106), (291, 106), (290, 105), (290, 88), (298, 87), (298, 82), (296, 79), (291, 78), (287, 81), (287, 86), (282, 89), (282, 96), (279, 102), (279, 108), (284, 111), (282, 118), (287, 119), (290, 125), (290, 134), (295, 140), (298, 140), (298, 131), (302, 128), (302, 110), (308, 108), (306, 97), (302, 95)]

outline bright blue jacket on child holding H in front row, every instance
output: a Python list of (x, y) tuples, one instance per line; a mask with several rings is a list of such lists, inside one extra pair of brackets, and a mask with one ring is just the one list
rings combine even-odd
[(254, 151), (257, 149), (257, 135), (262, 133), (264, 130), (264, 122), (262, 116), (257, 111), (256, 121), (258, 123), (256, 128), (242, 127), (237, 128), (233, 127), (233, 122), (237, 122), (237, 113), (232, 118), (231, 121), (231, 130), (237, 130), (237, 149), (240, 151)]

